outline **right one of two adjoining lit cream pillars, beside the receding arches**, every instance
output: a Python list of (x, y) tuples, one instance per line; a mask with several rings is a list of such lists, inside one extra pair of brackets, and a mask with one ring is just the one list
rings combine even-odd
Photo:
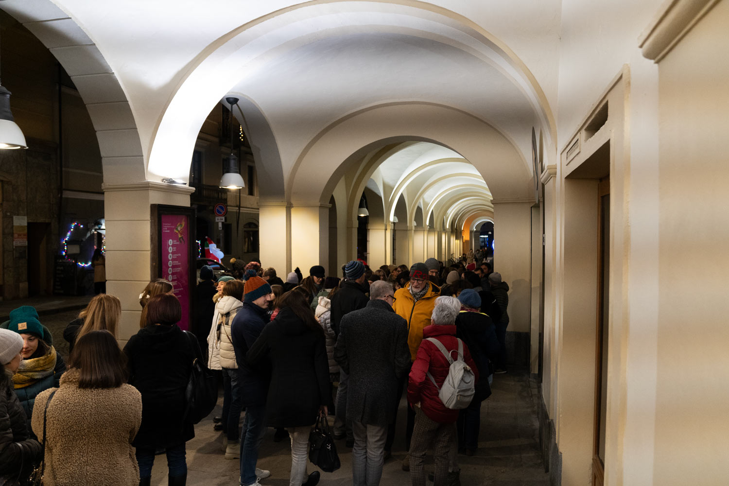
[[(328, 204), (294, 205), (291, 208), (291, 264), (304, 277), (314, 265), (329, 263)], [(330, 269), (327, 275), (330, 275)]]

